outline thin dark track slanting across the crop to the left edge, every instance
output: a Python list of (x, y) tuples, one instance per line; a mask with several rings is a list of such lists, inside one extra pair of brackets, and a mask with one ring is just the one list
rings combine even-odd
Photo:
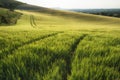
[(51, 36), (55, 36), (55, 35), (60, 34), (60, 33), (63, 33), (63, 32), (56, 32), (56, 33), (49, 34), (49, 35), (46, 35), (46, 36), (43, 36), (43, 37), (38, 37), (38, 38), (32, 39), (32, 40), (30, 40), (28, 42), (24, 42), (24, 43), (22, 43), (20, 45), (16, 45), (16, 46), (14, 46), (14, 47), (6, 50), (6, 51), (3, 51), (3, 55), (0, 56), (0, 60), (3, 59), (4, 57), (10, 55), (10, 54), (13, 54), (14, 51), (18, 50), (20, 47), (23, 47), (25, 45), (29, 45), (29, 44), (31, 44), (33, 42), (36, 42), (36, 41), (39, 41), (39, 40), (42, 40), (42, 39), (45, 39), (45, 38), (48, 38), (48, 37), (51, 37)]

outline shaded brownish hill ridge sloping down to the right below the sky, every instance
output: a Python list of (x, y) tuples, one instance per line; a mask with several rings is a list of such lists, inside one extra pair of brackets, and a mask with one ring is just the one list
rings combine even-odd
[(67, 17), (67, 18), (76, 18), (76, 19), (82, 19), (87, 21), (120, 21), (120, 19), (108, 17), (108, 16), (101, 16), (101, 15), (94, 15), (94, 14), (87, 14), (87, 13), (80, 13), (80, 12), (73, 12), (73, 11), (66, 11), (66, 10), (56, 10), (56, 9), (50, 9), (50, 8), (44, 8), (40, 6), (34, 6), (29, 4), (23, 4), (18, 7), (20, 10), (28, 10), (33, 12), (40, 12), (40, 13), (46, 13), (53, 16), (61, 16), (61, 17)]

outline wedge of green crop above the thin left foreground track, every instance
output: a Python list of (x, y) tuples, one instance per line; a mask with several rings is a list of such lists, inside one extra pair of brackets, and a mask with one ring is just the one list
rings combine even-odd
[(15, 49), (26, 44), (54, 36), (59, 32), (52, 31), (16, 31), (0, 32), (0, 59), (8, 54), (12, 54)]

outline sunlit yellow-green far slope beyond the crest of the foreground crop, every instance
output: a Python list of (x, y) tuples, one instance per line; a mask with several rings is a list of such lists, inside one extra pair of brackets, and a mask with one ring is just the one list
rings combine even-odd
[[(19, 20), (18, 25), (25, 23), (30, 24), (30, 16), (33, 16), (37, 27), (40, 29), (51, 29), (51, 30), (70, 30), (70, 29), (100, 29), (100, 28), (117, 28), (119, 27), (120, 19), (112, 17), (96, 16), (91, 14), (75, 13), (75, 12), (65, 12), (65, 11), (54, 11), (47, 14), (39, 12), (26, 12), (24, 13), (22, 19)], [(23, 22), (21, 22), (23, 21)], [(17, 25), (17, 26), (18, 26)], [(61, 27), (63, 26), (63, 27)], [(84, 28), (83, 28), (84, 26)], [(31, 27), (29, 25), (29, 27)]]

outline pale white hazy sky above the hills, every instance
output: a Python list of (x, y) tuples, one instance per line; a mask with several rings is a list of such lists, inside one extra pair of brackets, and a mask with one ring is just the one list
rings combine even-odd
[(49, 8), (120, 8), (120, 0), (18, 0)]

